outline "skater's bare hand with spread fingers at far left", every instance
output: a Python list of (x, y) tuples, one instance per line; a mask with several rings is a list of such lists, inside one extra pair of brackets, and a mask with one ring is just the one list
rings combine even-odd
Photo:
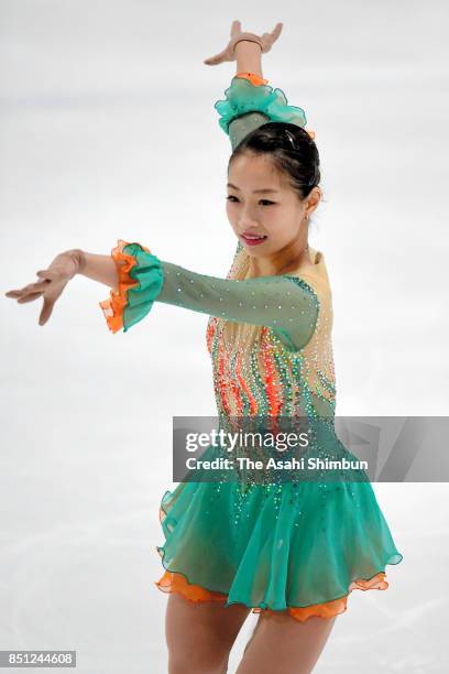
[(80, 270), (81, 263), (81, 251), (65, 251), (56, 256), (48, 269), (36, 272), (41, 281), (29, 283), (29, 285), (20, 290), (11, 290), (4, 294), (7, 297), (17, 300), (19, 304), (33, 302), (33, 300), (42, 296), (44, 304), (39, 317), (39, 324), (44, 325), (52, 315), (56, 300), (63, 293), (68, 281)]

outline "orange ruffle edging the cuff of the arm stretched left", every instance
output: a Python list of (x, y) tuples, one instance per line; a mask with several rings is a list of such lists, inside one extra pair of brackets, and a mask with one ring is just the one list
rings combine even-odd
[[(139, 285), (139, 281), (130, 276), (130, 271), (136, 265), (138, 261), (134, 256), (123, 252), (125, 246), (129, 246), (128, 241), (118, 239), (116, 248), (111, 250), (111, 257), (117, 267), (119, 289), (118, 291), (111, 290), (108, 300), (99, 302), (108, 327), (112, 333), (117, 333), (123, 327), (123, 311), (128, 304), (128, 291)], [(141, 248), (145, 252), (151, 252), (145, 246), (141, 246)]]

